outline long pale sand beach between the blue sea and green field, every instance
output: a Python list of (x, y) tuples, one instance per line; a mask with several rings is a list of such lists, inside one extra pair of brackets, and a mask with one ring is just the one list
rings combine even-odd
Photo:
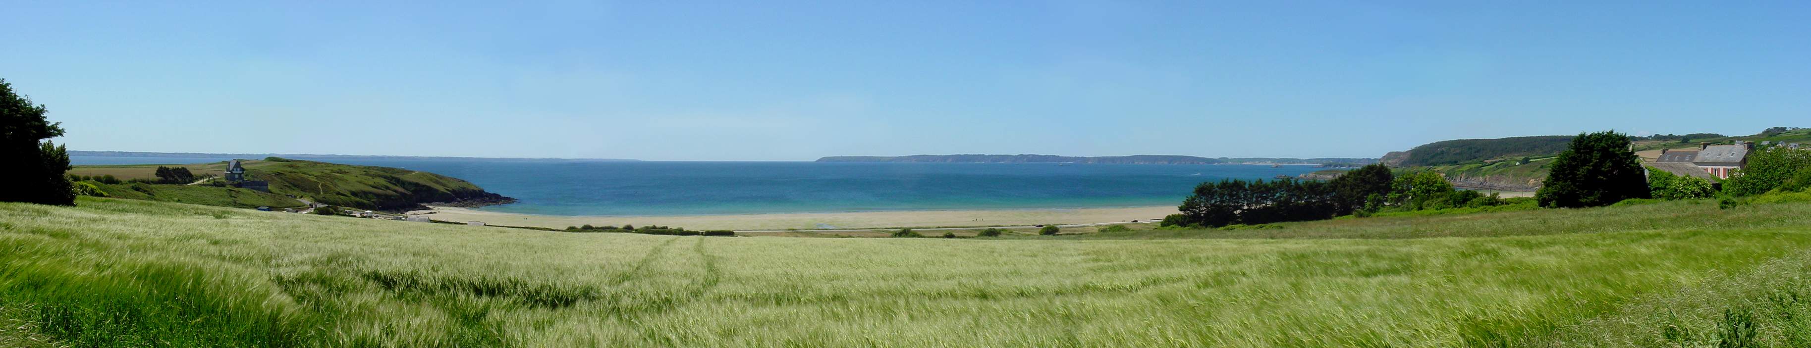
[[(429, 214), (431, 212), (431, 214)], [(1016, 210), (913, 210), (913, 212), (800, 212), (744, 216), (536, 216), (487, 212), (482, 208), (433, 207), (426, 214), (442, 221), (484, 221), (487, 225), (565, 228), (578, 225), (621, 227), (661, 225), (686, 230), (820, 230), (820, 228), (898, 228), (898, 227), (1011, 227), (1152, 221), (1175, 214), (1175, 207), (1130, 208), (1016, 208)]]

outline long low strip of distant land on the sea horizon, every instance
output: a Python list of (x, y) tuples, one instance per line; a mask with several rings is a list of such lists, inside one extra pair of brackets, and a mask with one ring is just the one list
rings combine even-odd
[(1376, 158), (1199, 158), (1175, 154), (1134, 156), (1054, 156), (1054, 154), (913, 154), (913, 156), (829, 156), (817, 161), (902, 161), (902, 163), (1094, 163), (1094, 165), (1221, 165), (1221, 163), (1349, 163), (1369, 165)]

